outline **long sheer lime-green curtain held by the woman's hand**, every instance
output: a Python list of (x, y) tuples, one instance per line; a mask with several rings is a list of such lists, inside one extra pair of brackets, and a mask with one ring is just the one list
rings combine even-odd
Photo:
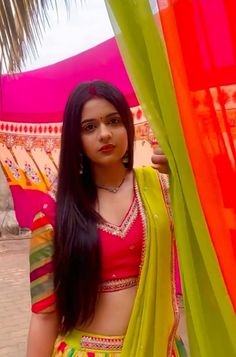
[(233, 357), (235, 313), (198, 197), (161, 33), (148, 0), (106, 0), (106, 5), (130, 80), (170, 165), (191, 356)]

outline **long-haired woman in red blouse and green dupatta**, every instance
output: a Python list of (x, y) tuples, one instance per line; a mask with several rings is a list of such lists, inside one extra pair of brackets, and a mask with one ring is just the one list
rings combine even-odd
[(28, 357), (178, 355), (167, 192), (155, 170), (133, 169), (133, 143), (122, 93), (80, 84), (64, 113), (56, 209), (33, 224)]

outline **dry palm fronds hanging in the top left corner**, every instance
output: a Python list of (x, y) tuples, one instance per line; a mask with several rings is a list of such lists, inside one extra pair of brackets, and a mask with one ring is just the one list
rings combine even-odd
[[(74, 0), (76, 1), (76, 0)], [(0, 72), (20, 70), (27, 56), (37, 56), (37, 42), (57, 0), (0, 0)], [(71, 0), (64, 0), (69, 10)]]

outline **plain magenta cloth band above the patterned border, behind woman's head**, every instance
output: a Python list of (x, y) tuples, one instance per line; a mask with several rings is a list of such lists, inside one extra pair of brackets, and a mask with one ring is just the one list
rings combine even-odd
[(114, 38), (56, 64), (1, 77), (0, 119), (14, 122), (58, 122), (69, 93), (82, 81), (115, 84), (131, 107), (138, 104)]

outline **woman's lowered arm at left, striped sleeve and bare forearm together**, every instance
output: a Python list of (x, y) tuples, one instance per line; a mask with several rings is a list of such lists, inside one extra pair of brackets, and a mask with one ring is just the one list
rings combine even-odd
[(45, 212), (33, 221), (30, 241), (30, 292), (32, 315), (27, 357), (51, 357), (59, 319), (53, 282), (54, 229)]

